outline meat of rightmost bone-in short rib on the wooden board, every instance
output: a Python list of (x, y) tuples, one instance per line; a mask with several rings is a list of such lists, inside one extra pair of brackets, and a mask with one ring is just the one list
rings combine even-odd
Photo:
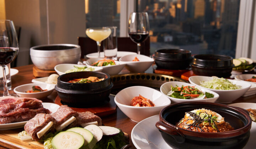
[(93, 114), (92, 112), (78, 112), (79, 114), (79, 119), (78, 119), (78, 124), (82, 127), (85, 127), (87, 125), (87, 123), (90, 122), (95, 122), (97, 121), (98, 126), (102, 125), (102, 120), (100, 117), (98, 117), (97, 115)]

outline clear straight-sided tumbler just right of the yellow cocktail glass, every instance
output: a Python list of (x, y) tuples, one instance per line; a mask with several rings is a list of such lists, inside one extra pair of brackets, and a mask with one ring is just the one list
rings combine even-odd
[(117, 60), (117, 27), (108, 26), (111, 29), (111, 34), (103, 40), (104, 56), (107, 59)]

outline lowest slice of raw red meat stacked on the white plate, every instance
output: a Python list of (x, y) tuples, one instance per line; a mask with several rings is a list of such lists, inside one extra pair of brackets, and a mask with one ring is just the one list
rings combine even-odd
[(12, 112), (11, 116), (0, 117), (0, 124), (28, 121), (39, 113), (50, 114), (50, 111), (43, 107), (39, 107), (38, 109), (22, 109), (20, 111)]

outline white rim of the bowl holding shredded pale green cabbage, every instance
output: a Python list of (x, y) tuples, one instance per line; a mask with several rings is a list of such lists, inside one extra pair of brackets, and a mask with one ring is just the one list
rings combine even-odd
[[(208, 76), (191, 76), (191, 77), (188, 78), (188, 80), (189, 80), (190, 82), (192, 82), (190, 78), (196, 78), (196, 77), (208, 77)], [(211, 78), (211, 77), (208, 77), (208, 78)], [(243, 90), (243, 89), (246, 89), (246, 88), (250, 88), (250, 87), (251, 87), (251, 83), (247, 83), (247, 82), (245, 82), (245, 81), (240, 81), (240, 80), (236, 80), (236, 79), (235, 79), (235, 80), (233, 80), (233, 79), (228, 79), (228, 81), (230, 81), (231, 83), (233, 83), (233, 81), (238, 81), (238, 82), (240, 82), (240, 83), (242, 83), (242, 84), (245, 83), (246, 87), (242, 87), (242, 88), (240, 88), (240, 89), (232, 89), (232, 90), (220, 90), (220, 89), (206, 88), (206, 87), (202, 87), (201, 85), (198, 85), (198, 84), (196, 84), (196, 83), (194, 83), (194, 82), (192, 82), (192, 83), (198, 85), (198, 86), (201, 87), (201, 88), (205, 88), (205, 89), (212, 90), (212, 91), (216, 91), (216, 92), (230, 92), (230, 91), (233, 91), (233, 90), (240, 91), (240, 90)], [(192, 84), (192, 83), (191, 83), (191, 84)]]

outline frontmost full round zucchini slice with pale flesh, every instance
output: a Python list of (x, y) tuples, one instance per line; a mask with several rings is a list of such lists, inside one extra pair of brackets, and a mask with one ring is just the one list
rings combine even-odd
[(76, 132), (64, 131), (52, 139), (54, 149), (81, 149), (84, 146), (84, 137)]

